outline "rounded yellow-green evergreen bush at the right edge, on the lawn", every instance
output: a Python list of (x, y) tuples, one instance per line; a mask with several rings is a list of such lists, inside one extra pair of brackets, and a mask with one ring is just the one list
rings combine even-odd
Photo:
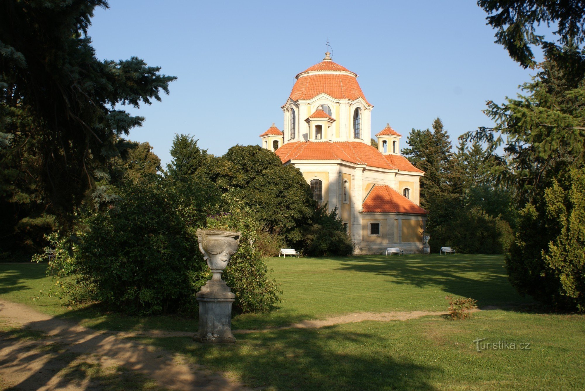
[(506, 259), (510, 282), (555, 309), (585, 311), (585, 169), (554, 181), (521, 213)]

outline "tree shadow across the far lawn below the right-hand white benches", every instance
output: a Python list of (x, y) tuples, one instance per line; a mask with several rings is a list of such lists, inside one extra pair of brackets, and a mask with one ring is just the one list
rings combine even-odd
[(342, 270), (388, 276), (388, 282), (418, 288), (435, 286), (447, 294), (472, 297), (480, 306), (534, 304), (510, 285), (501, 255), (366, 255), (338, 260)]

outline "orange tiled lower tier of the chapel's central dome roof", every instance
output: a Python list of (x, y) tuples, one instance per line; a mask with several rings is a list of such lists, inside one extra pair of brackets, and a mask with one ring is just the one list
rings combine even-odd
[(293, 101), (299, 99), (312, 99), (319, 94), (327, 94), (334, 99), (349, 99), (355, 101), (363, 98), (369, 105), (362, 88), (357, 84), (357, 79), (352, 75), (343, 73), (309, 74), (297, 79), (290, 98)]

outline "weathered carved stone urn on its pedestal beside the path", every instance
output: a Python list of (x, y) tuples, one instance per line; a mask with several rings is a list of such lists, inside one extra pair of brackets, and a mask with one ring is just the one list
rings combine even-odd
[(197, 230), (199, 250), (214, 276), (197, 292), (199, 330), (195, 341), (209, 344), (235, 342), (232, 334), (232, 303), (236, 295), (221, 279), (229, 259), (238, 250), (240, 232)]

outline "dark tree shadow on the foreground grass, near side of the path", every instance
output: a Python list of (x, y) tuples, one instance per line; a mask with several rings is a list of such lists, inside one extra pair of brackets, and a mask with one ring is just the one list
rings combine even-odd
[(432, 365), (393, 356), (385, 348), (364, 349), (379, 335), (336, 327), (275, 330), (238, 335), (231, 345), (199, 344), (187, 338), (149, 340), (197, 364), (237, 373), (247, 385), (277, 390), (432, 390), (442, 373)]

